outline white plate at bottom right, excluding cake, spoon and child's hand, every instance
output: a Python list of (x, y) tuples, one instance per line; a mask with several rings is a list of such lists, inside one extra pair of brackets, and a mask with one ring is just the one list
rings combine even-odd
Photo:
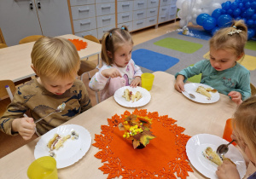
[[(192, 136), (186, 145), (189, 161), (202, 175), (218, 179), (215, 174), (218, 165), (206, 159), (202, 153), (207, 147), (212, 147), (212, 150), (216, 151), (219, 145), (227, 143), (229, 142), (219, 136), (209, 134)], [(236, 164), (236, 168), (242, 178), (246, 173), (246, 164), (239, 150), (233, 145), (230, 145), (229, 152), (225, 154), (225, 157), (231, 159)]]

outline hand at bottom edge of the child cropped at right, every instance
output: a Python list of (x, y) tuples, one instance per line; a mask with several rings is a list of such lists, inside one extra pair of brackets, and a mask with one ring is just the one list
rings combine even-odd
[(228, 159), (224, 160), (223, 164), (218, 166), (216, 175), (218, 176), (218, 179), (240, 179), (236, 165), (232, 164)]

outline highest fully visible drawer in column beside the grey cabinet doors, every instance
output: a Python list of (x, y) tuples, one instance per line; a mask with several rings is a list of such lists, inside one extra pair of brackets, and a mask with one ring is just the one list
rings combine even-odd
[(73, 20), (80, 20), (89, 17), (95, 17), (95, 5), (74, 6), (71, 7)]

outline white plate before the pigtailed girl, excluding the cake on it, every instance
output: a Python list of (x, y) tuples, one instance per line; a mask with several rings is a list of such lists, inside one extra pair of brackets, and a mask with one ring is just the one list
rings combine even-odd
[[(134, 102), (126, 101), (125, 98), (122, 97), (122, 95), (124, 95), (125, 89), (131, 90), (131, 92), (134, 94), (136, 93), (136, 91), (140, 91), (143, 95), (143, 98)], [(151, 95), (148, 90), (143, 89), (142, 87), (137, 86), (136, 88), (132, 88), (131, 86), (124, 86), (122, 88), (119, 88), (119, 90), (115, 91), (113, 98), (117, 103), (119, 103), (119, 105), (123, 107), (143, 107), (151, 100)]]

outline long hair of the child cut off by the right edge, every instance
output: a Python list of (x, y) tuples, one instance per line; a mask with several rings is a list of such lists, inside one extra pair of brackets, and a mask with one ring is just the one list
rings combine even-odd
[(243, 101), (234, 114), (233, 126), (256, 160), (256, 95)]

